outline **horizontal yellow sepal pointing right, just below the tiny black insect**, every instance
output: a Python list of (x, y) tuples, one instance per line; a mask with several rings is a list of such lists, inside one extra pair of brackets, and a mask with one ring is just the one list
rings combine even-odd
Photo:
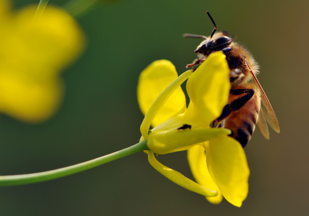
[(230, 134), (225, 128), (165, 130), (151, 132), (148, 137), (148, 148), (157, 154), (167, 154), (189, 149), (193, 145)]

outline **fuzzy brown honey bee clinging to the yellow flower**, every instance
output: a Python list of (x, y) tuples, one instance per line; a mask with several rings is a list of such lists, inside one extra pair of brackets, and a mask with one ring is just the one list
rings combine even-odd
[(227, 32), (215, 33), (217, 26), (208, 11), (207, 14), (215, 26), (210, 37), (192, 34), (183, 36), (204, 39), (195, 50), (198, 59), (188, 64), (187, 68), (201, 64), (215, 51), (223, 51), (226, 55), (230, 68), (230, 95), (221, 116), (214, 120), (211, 126), (230, 129), (232, 133), (229, 136), (239, 141), (243, 147), (251, 139), (256, 125), (262, 135), (269, 139), (266, 120), (277, 133), (280, 132), (280, 128), (273, 108), (256, 79), (259, 66), (250, 52), (236, 43)]

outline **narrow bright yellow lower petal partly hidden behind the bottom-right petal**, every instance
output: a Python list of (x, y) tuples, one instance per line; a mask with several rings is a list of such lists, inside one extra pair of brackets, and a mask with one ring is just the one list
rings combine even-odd
[[(188, 149), (188, 162), (194, 179), (198, 184), (209, 188), (210, 190), (218, 190), (207, 169), (205, 149), (201, 145), (195, 145)], [(218, 191), (215, 197), (206, 197), (206, 199), (213, 203), (219, 204), (222, 201), (222, 194)]]

